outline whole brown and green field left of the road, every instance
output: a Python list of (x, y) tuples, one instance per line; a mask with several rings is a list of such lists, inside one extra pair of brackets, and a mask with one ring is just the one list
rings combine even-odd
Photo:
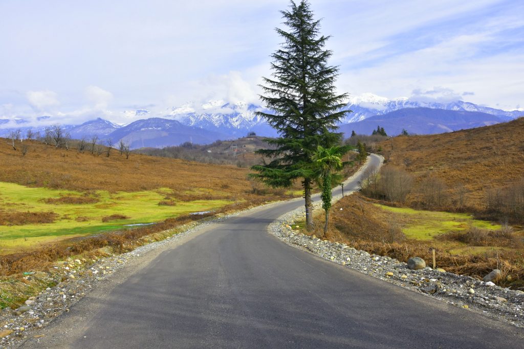
[(0, 254), (300, 195), (298, 187), (266, 189), (250, 181), (248, 172), (141, 154), (126, 159), (116, 150), (110, 156), (81, 153), (34, 141), (14, 150), (0, 140)]

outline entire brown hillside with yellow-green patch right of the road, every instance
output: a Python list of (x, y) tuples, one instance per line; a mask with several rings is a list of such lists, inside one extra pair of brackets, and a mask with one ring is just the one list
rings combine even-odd
[[(524, 289), (524, 118), (377, 137), (346, 140), (368, 142), (386, 161), (380, 172), (366, 172), (361, 193), (334, 205), (327, 238), (405, 262), (420, 256), (431, 263), (435, 249), (446, 271), (482, 278), (497, 268), (501, 286)], [(323, 224), (316, 212), (317, 236)]]

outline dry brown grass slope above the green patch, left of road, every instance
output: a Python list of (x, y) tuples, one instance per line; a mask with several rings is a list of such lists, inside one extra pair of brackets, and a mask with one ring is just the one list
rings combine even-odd
[(0, 181), (57, 189), (137, 192), (171, 188), (184, 192), (192, 188), (220, 189), (227, 195), (244, 195), (250, 183), (249, 170), (231, 165), (210, 165), (163, 157), (114, 152), (110, 157), (63, 150), (34, 141), (25, 156), (0, 139)]

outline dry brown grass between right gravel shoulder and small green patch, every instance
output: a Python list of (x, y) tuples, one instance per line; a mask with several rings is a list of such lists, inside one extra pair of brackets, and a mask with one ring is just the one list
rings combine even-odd
[[(431, 250), (435, 248), (437, 266), (446, 269), (446, 271), (482, 278), (492, 269), (499, 268), (503, 270), (504, 277), (510, 275), (512, 278), (511, 280), (504, 279), (500, 282), (500, 285), (524, 288), (524, 268), (522, 268), (524, 254), (522, 250), (512, 248), (497, 249), (496, 253), (452, 254), (449, 252), (445, 241), (451, 239), (457, 243), (462, 242), (457, 237), (463, 237), (470, 231), (442, 235), (438, 241), (406, 239), (403, 234), (392, 234), (394, 226), (402, 226), (402, 217), (394, 212), (376, 207), (373, 202), (375, 201), (358, 193), (346, 196), (336, 202), (331, 211), (330, 229), (325, 238), (330, 241), (347, 243), (355, 249), (369, 253), (397, 258), (402, 262), (407, 262), (413, 256), (431, 261)], [(322, 236), (323, 214), (320, 211), (315, 215), (315, 224), (317, 228), (311, 234)], [(500, 231), (486, 233), (485, 237), (486, 240), (483, 241), (489, 246), (518, 247), (522, 240), (515, 232), (504, 228)], [(495, 240), (498, 240), (495, 245), (490, 244), (494, 243)], [(473, 242), (472, 245), (475, 245), (475, 243)]]

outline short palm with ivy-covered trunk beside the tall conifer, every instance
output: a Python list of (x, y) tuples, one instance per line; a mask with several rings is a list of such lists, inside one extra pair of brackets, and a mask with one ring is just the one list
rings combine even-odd
[(324, 148), (322, 145), (319, 145), (316, 149), (316, 152), (313, 154), (313, 161), (319, 169), (319, 179), (320, 187), (322, 192), (320, 197), (322, 199), (322, 208), (325, 212), (325, 221), (324, 221), (324, 237), (328, 233), (328, 222), (329, 222), (329, 211), (331, 209), (331, 190), (334, 185), (338, 185), (339, 181), (333, 175), (334, 171), (341, 170), (344, 166), (344, 163), (341, 160), (342, 155), (344, 155), (351, 147), (346, 145), (345, 147), (339, 147), (335, 145), (331, 148)]

